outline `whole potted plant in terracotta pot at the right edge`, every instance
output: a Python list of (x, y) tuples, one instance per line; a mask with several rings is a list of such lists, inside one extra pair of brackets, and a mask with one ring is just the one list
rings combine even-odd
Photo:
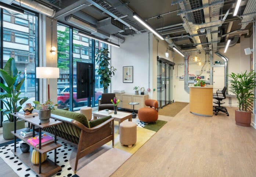
[(255, 100), (253, 89), (256, 86), (255, 76), (256, 73), (251, 71), (247, 73), (245, 71), (242, 74), (230, 74), (228, 75), (231, 80), (230, 91), (237, 96), (238, 110), (235, 110), (235, 123), (237, 125), (249, 127), (251, 123), (251, 112), (247, 108), (252, 105)]

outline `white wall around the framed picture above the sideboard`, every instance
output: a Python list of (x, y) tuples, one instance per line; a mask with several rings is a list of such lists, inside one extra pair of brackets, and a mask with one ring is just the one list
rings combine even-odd
[[(117, 69), (111, 79), (111, 92), (119, 89), (133, 94), (133, 87), (139, 86), (145, 88), (149, 98), (157, 99), (157, 56), (173, 60), (170, 50), (169, 57), (165, 57), (167, 42), (158, 39), (158, 43), (157, 39), (152, 33), (143, 33), (126, 37), (120, 48), (111, 46), (111, 65)], [(133, 66), (133, 83), (123, 83), (124, 66)]]

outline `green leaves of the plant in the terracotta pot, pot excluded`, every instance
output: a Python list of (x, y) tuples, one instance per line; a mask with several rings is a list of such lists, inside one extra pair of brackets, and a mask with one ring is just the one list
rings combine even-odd
[(245, 71), (242, 74), (228, 75), (231, 80), (230, 91), (237, 96), (239, 111), (247, 111), (248, 106), (255, 100), (253, 89), (256, 86), (255, 76), (256, 73)]

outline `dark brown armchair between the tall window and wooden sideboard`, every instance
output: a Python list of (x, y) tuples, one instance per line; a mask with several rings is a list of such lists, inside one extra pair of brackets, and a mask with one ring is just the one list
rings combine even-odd
[(98, 100), (98, 111), (109, 109), (114, 110), (114, 105), (111, 103), (111, 99), (114, 99), (116, 97), (115, 93), (102, 93), (101, 98)]

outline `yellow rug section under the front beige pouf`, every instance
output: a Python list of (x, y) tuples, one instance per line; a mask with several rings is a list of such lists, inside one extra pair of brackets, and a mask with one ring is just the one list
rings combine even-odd
[[(148, 130), (145, 128), (141, 128), (137, 126), (137, 141), (132, 147), (128, 146), (121, 146), (119, 141), (119, 134), (118, 134), (118, 122), (114, 121), (114, 129), (115, 129), (115, 143), (114, 147), (118, 148), (120, 150), (129, 152), (131, 154), (134, 154), (143, 144), (145, 144), (151, 136), (153, 136), (156, 132), (152, 130)], [(108, 146), (112, 146), (112, 142), (107, 143)]]

